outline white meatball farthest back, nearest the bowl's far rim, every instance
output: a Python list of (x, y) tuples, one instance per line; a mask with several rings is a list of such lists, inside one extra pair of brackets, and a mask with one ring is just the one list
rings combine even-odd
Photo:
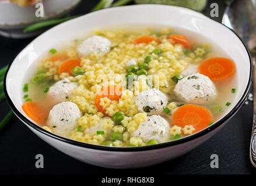
[(78, 45), (78, 53), (80, 56), (87, 56), (92, 52), (105, 55), (110, 51), (111, 41), (105, 37), (94, 35), (87, 38), (80, 45)]

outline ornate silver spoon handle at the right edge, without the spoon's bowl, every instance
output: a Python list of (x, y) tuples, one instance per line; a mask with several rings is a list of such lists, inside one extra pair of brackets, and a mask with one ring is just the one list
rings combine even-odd
[(253, 59), (253, 129), (251, 131), (250, 160), (256, 168), (256, 65)]

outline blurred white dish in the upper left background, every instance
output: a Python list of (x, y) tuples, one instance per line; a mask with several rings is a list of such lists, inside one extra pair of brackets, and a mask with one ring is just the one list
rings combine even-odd
[(23, 28), (29, 24), (43, 20), (61, 17), (68, 14), (81, 0), (44, 0), (44, 17), (36, 17), (34, 6), (20, 7), (9, 1), (0, 1), (0, 35), (10, 38), (26, 38), (38, 35), (23, 33)]

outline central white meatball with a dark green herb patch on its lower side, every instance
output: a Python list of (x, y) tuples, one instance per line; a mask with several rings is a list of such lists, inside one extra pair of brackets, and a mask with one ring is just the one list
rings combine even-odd
[(148, 115), (157, 115), (163, 112), (169, 98), (161, 91), (153, 88), (143, 91), (135, 97), (135, 105), (140, 112), (146, 112)]

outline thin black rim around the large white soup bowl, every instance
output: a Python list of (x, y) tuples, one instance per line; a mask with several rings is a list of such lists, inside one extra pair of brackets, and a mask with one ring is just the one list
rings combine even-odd
[[(131, 6), (143, 6), (143, 5), (131, 5)], [(155, 6), (164, 6), (164, 5), (155, 5)], [(168, 6), (170, 6), (170, 5), (168, 5)], [(189, 8), (185, 8), (185, 9), (189, 9)], [(190, 9), (190, 10), (192, 10), (192, 9)], [(193, 10), (193, 11), (195, 11), (195, 10)], [(195, 11), (195, 12), (197, 12), (197, 11)], [(201, 12), (197, 12), (197, 13), (200, 13), (202, 16), (205, 16)], [(207, 17), (207, 16), (205, 16), (205, 17)], [(210, 19), (210, 18), (207, 17), (207, 19)], [(212, 19), (210, 19), (210, 20), (212, 20)], [(215, 20), (213, 20), (213, 21), (215, 21)], [(215, 22), (217, 22), (217, 21), (215, 21)], [(219, 22), (217, 22), (217, 23), (219, 23)], [(40, 126), (37, 126), (37, 124), (34, 124), (30, 120), (28, 120), (25, 116), (23, 116), (22, 113), (20, 113), (19, 110), (17, 110), (17, 108), (13, 104), (12, 100), (10, 99), (10, 97), (8, 95), (8, 92), (6, 90), (6, 77), (7, 77), (9, 68), (12, 65), (13, 62), (10, 63), (10, 65), (9, 65), (7, 71), (6, 71), (6, 74), (5, 74), (5, 78), (3, 80), (3, 88), (4, 88), (4, 91), (5, 91), (6, 99), (7, 99), (8, 103), (9, 103), (9, 105), (10, 105), (10, 108), (15, 113), (15, 115), (17, 117), (19, 117), (19, 119), (22, 120), (24, 123), (27, 123), (34, 130), (37, 130), (40, 133), (48, 135), (49, 137), (52, 137), (55, 140), (59, 140), (59, 141), (66, 142), (66, 143), (71, 144), (71, 145), (80, 146), (80, 147), (84, 147), (84, 148), (96, 149), (96, 150), (101, 150), (101, 151), (119, 151), (119, 152), (149, 151), (149, 150), (154, 150), (154, 149), (166, 148), (166, 147), (174, 146), (174, 145), (178, 145), (178, 144), (183, 144), (184, 142), (195, 140), (196, 138), (202, 137), (203, 135), (209, 133), (210, 131), (213, 131), (216, 128), (220, 127), (223, 123), (228, 121), (237, 112), (237, 110), (239, 110), (239, 108), (243, 105), (244, 101), (246, 100), (246, 98), (247, 98), (247, 96), (249, 94), (251, 83), (252, 83), (252, 80), (253, 80), (253, 60), (251, 59), (251, 55), (250, 55), (250, 52), (249, 52), (246, 44), (244, 44), (243, 40), (241, 40), (239, 35), (237, 35), (232, 29), (230, 29), (229, 27), (225, 26), (222, 23), (219, 23), (219, 24), (224, 26), (224, 27), (226, 27), (227, 29), (231, 30), (236, 35), (236, 37), (239, 38), (239, 40), (242, 42), (242, 44), (244, 45), (244, 48), (246, 48), (246, 51), (248, 53), (248, 57), (250, 59), (250, 77), (249, 77), (249, 81), (248, 81), (248, 84), (247, 84), (247, 87), (246, 87), (246, 91), (241, 96), (241, 99), (234, 106), (234, 108), (229, 113), (227, 113), (227, 115), (225, 115), (222, 119), (220, 119), (216, 123), (212, 124), (211, 126), (205, 128), (204, 130), (201, 130), (198, 133), (195, 133), (195, 134), (192, 134), (192, 135), (188, 135), (187, 137), (180, 138), (180, 139), (174, 140), (174, 141), (164, 142), (162, 144), (149, 145), (149, 146), (110, 147), (110, 146), (103, 146), (103, 145), (86, 144), (85, 142), (79, 142), (79, 141), (71, 140), (69, 138), (61, 137), (61, 136), (56, 135), (54, 133), (50, 133), (47, 130), (44, 130), (43, 128), (41, 128)]]

